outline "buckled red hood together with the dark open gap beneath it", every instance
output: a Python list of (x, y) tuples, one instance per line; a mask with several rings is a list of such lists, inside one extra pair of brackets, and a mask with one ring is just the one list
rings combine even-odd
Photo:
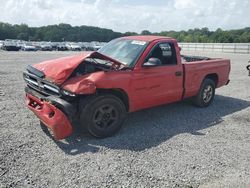
[(33, 67), (45, 75), (47, 81), (62, 85), (66, 80), (99, 71), (118, 70), (122, 63), (100, 54), (83, 52), (80, 55), (49, 60)]

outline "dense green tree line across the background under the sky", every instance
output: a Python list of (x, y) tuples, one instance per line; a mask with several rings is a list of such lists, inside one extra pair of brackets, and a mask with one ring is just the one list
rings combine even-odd
[(29, 27), (26, 24), (12, 25), (0, 22), (0, 40), (19, 39), (26, 41), (72, 41), (72, 42), (108, 42), (114, 38), (130, 35), (160, 35), (176, 38), (179, 42), (201, 43), (249, 43), (250, 27), (237, 30), (210, 31), (208, 28), (195, 28), (188, 31), (162, 31), (152, 33), (144, 30), (141, 33), (115, 32), (111, 29), (92, 26), (71, 26), (69, 24)]

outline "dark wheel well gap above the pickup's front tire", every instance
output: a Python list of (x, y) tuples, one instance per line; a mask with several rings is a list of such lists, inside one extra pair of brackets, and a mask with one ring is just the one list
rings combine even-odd
[(128, 95), (122, 89), (97, 89), (97, 92), (98, 93), (111, 94), (111, 95), (114, 95), (114, 96), (118, 97), (124, 103), (127, 112), (129, 111)]

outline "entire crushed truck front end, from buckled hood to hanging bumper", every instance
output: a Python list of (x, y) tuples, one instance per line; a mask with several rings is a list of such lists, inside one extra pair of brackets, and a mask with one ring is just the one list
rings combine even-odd
[(94, 94), (95, 81), (120, 66), (98, 52), (28, 66), (23, 73), (26, 105), (56, 139), (63, 139), (77, 122), (80, 96)]

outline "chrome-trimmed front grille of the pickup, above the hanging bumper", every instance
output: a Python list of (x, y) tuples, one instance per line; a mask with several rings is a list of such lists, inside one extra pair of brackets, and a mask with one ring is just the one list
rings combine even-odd
[(60, 96), (61, 95), (60, 89), (58, 86), (42, 78), (37, 77), (36, 75), (32, 73), (24, 72), (23, 78), (30, 88), (38, 91), (39, 93), (42, 93), (46, 96), (50, 96), (50, 95)]

